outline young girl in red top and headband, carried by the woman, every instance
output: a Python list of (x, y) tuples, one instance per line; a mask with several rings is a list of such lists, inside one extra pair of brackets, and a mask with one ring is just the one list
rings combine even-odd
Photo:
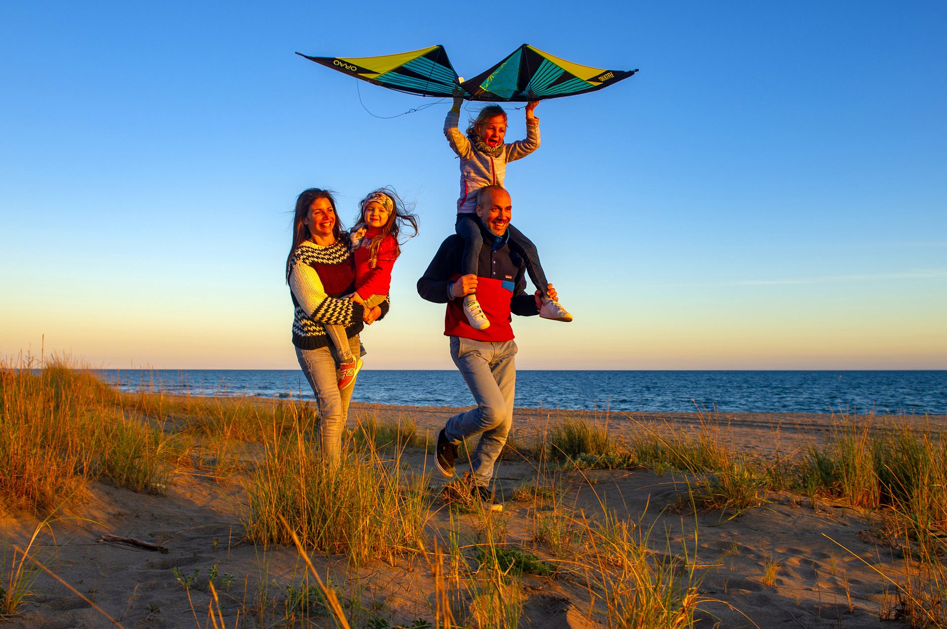
[[(359, 206), (360, 222), (352, 228), (350, 236), (355, 258), (355, 292), (349, 299), (370, 308), (387, 299), (391, 270), (402, 252), (398, 236), (408, 225), (413, 233), (407, 236), (417, 235), (418, 217), (404, 207), (391, 188), (368, 193)], [(339, 389), (346, 389), (355, 382), (362, 368), (362, 358), (352, 356), (342, 325), (325, 325), (325, 328), (339, 361)]]

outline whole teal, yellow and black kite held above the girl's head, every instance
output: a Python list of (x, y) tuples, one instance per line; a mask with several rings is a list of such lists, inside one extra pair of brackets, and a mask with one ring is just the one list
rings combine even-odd
[[(419, 96), (454, 96), (459, 78), (442, 45), (382, 57), (300, 57), (356, 79)], [(637, 70), (606, 70), (553, 57), (523, 44), (474, 79), (460, 82), (465, 100), (525, 102), (594, 92)]]

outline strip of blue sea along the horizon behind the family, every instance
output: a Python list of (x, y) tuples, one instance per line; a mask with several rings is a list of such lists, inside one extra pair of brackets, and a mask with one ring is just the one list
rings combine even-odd
[[(125, 392), (313, 399), (299, 370), (94, 370)], [(363, 370), (352, 399), (463, 407), (456, 371)], [(528, 371), (515, 405), (584, 411), (947, 414), (947, 371)]]

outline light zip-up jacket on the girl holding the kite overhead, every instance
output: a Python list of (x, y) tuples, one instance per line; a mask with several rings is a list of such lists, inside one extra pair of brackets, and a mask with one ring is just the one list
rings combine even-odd
[(485, 185), (496, 183), (503, 185), (507, 174), (507, 163), (526, 157), (539, 149), (539, 118), (527, 120), (527, 137), (503, 145), (503, 152), (497, 157), (485, 155), (474, 149), (466, 135), (457, 129), (460, 112), (452, 109), (444, 118), (444, 135), (451, 149), (460, 158), (460, 198), (457, 199), (457, 213), (476, 212), (476, 191)]

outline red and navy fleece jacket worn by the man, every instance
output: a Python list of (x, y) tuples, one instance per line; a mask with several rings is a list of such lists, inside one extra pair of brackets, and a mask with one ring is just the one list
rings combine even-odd
[(539, 314), (535, 297), (525, 291), (526, 263), (509, 250), (509, 234), (494, 236), (482, 225), (480, 231), (483, 233), (483, 246), (477, 264), (476, 298), (490, 321), (490, 327), (474, 329), (464, 315), (463, 298), (454, 298), (450, 294), (451, 284), (460, 277), (460, 258), (464, 253), (464, 239), (456, 234), (441, 243), (427, 271), (418, 280), (418, 294), (429, 302), (447, 304), (444, 336), (474, 341), (512, 341), (510, 313), (521, 317)]

